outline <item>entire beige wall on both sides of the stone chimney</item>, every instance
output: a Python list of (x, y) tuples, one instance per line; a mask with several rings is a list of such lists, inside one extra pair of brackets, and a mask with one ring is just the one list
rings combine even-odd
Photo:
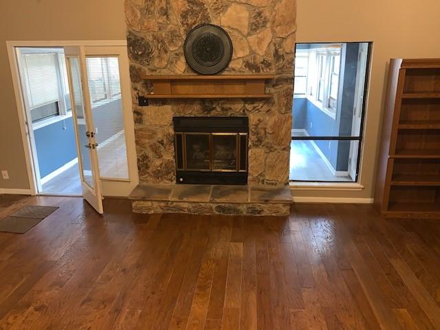
[[(374, 50), (361, 177), (366, 188), (295, 195), (372, 197), (387, 63), (392, 57), (440, 57), (439, 12), (438, 0), (298, 0), (298, 42), (373, 41)], [(8, 169), (11, 179), (0, 179), (0, 188), (28, 188), (4, 41), (124, 38), (123, 0), (1, 1), (0, 169)]]

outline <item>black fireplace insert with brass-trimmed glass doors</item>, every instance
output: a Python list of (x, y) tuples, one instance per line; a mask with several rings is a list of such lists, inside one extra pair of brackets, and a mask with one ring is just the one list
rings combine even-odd
[(248, 184), (247, 117), (175, 117), (177, 184)]

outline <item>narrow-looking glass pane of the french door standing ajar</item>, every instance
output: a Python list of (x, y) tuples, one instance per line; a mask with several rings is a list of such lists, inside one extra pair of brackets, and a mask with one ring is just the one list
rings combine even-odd
[(94, 179), (91, 172), (90, 151), (86, 148), (89, 139), (85, 135), (87, 132), (87, 122), (85, 118), (83, 90), (81, 89), (80, 65), (78, 58), (69, 57), (69, 66), (72, 74), (72, 98), (76, 110), (76, 122), (78, 124), (78, 138), (80, 139), (80, 161), (83, 167), (83, 178), (86, 184), (94, 188)]

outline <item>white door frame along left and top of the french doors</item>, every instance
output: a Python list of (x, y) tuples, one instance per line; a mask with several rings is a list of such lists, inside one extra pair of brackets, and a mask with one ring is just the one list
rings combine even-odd
[[(26, 107), (21, 90), (19, 65), (16, 55), (16, 47), (65, 47), (65, 46), (126, 46), (126, 40), (70, 40), (70, 41), (6, 41), (6, 48), (8, 50), (9, 65), (12, 74), (12, 86), (14, 87), (15, 102), (17, 104), (17, 111), (19, 115), (19, 124), (21, 132), (21, 141), (25, 153), (26, 168), (28, 171), (28, 180), (30, 185), (30, 194), (38, 195), (37, 173), (34, 168), (33, 154), (36, 150), (31, 143), (31, 136), (33, 135), (32, 128), (26, 124)], [(131, 102), (130, 102), (131, 103)], [(31, 133), (32, 132), (32, 133)]]

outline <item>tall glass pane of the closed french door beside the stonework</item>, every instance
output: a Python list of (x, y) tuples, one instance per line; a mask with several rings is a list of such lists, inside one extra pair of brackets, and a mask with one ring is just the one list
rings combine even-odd
[(129, 179), (118, 57), (86, 56), (86, 65), (100, 177)]

